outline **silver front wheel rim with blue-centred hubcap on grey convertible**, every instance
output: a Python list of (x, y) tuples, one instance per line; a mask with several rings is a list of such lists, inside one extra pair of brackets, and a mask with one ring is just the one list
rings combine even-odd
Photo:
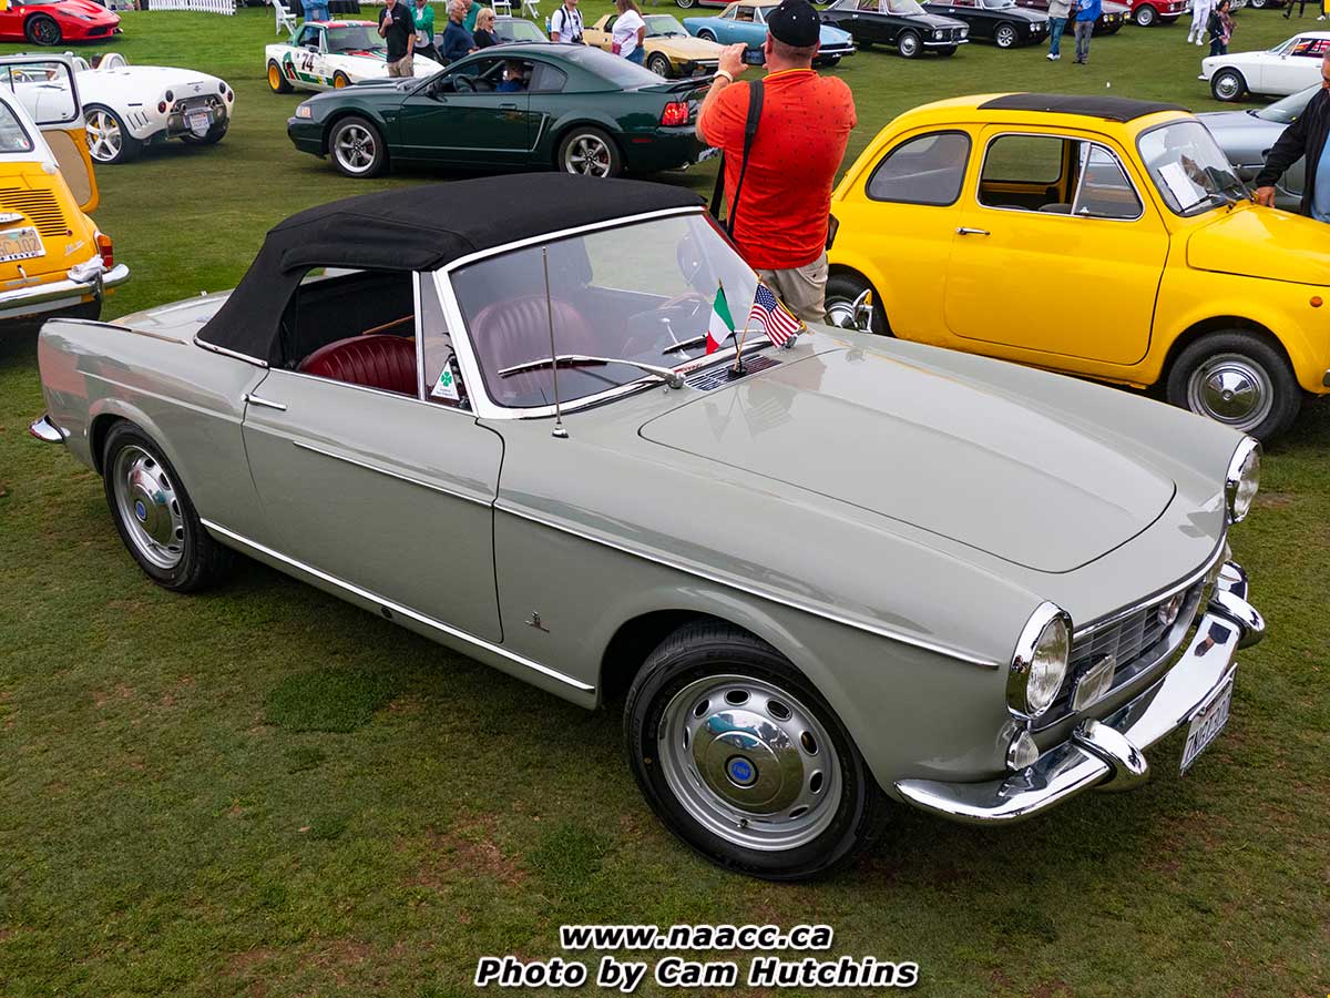
[(674, 798), (732, 845), (798, 849), (835, 820), (843, 777), (831, 737), (771, 683), (739, 675), (689, 683), (665, 705), (656, 737)]

